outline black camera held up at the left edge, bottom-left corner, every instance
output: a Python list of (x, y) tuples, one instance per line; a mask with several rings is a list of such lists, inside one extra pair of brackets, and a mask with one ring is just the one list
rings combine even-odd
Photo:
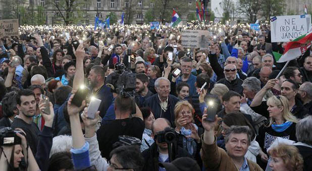
[(22, 131), (13, 130), (11, 127), (4, 127), (0, 129), (0, 145), (11, 146), (21, 144), (22, 139), (16, 133), (23, 134)]

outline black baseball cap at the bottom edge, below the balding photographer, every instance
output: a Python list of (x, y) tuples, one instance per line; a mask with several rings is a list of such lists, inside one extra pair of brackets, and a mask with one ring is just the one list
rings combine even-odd
[(165, 167), (167, 171), (200, 171), (197, 162), (190, 157), (179, 157), (172, 162), (161, 162), (159, 166)]

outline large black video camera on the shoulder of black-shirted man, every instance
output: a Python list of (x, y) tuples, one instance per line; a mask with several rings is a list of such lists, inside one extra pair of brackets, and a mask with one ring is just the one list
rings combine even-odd
[(136, 74), (126, 71), (123, 63), (115, 65), (115, 72), (107, 77), (106, 85), (122, 97), (133, 97), (136, 88)]

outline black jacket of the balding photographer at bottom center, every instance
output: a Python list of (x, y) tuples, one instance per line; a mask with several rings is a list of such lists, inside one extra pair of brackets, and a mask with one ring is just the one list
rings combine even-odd
[[(148, 171), (158, 171), (159, 170), (159, 152), (158, 152), (158, 146), (153, 143), (150, 145), (150, 147), (142, 152), (142, 155), (144, 157), (144, 167), (142, 170), (148, 170)], [(177, 153), (176, 157), (191, 157), (193, 158), (186, 150), (184, 150), (181, 147), (177, 147)]]

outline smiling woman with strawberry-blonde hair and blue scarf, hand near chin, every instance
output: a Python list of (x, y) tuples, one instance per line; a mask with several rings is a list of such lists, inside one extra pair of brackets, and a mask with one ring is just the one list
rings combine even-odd
[(200, 161), (200, 135), (203, 130), (198, 130), (197, 125), (194, 124), (192, 105), (188, 101), (180, 101), (175, 106), (174, 114), (175, 130), (179, 134), (177, 144), (188, 151), (197, 161)]

